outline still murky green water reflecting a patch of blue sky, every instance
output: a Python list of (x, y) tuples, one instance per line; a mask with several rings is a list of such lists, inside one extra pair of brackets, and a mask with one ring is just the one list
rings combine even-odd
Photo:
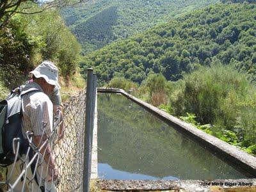
[(100, 179), (246, 178), (123, 95), (98, 94)]

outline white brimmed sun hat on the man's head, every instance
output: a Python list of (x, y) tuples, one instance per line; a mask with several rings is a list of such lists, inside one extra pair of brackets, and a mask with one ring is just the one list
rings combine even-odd
[(51, 61), (43, 61), (33, 71), (29, 72), (29, 76), (36, 78), (43, 77), (47, 83), (60, 88), (58, 83), (58, 68)]

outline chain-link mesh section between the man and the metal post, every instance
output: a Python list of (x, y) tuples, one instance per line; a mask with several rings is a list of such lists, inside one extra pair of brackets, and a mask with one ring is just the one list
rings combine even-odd
[(54, 148), (60, 174), (58, 191), (79, 191), (83, 186), (85, 109), (85, 91), (65, 104), (65, 136)]

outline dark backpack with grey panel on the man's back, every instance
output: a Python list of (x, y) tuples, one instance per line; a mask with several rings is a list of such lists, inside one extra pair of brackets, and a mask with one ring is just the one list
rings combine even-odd
[(20, 92), (20, 87), (12, 90), (10, 95), (0, 102), (0, 165), (8, 166), (15, 161), (13, 139), (19, 138), (19, 155), (26, 154), (29, 143), (22, 135), (22, 95), (39, 92), (36, 88)]

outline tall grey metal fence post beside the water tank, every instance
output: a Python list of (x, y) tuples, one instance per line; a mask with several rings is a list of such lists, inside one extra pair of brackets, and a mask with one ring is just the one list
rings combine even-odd
[(93, 102), (93, 69), (87, 69), (86, 87), (86, 122), (84, 127), (84, 162), (83, 162), (83, 191), (90, 191), (90, 136), (91, 136), (91, 115)]

